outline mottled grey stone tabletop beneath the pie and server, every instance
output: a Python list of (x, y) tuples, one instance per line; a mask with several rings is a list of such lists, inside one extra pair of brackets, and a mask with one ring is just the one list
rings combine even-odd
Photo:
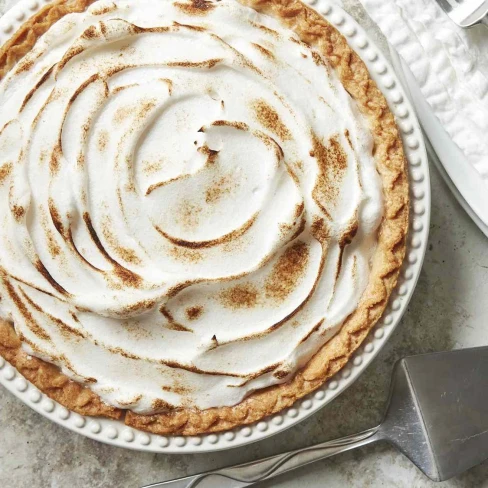
[[(5, 3), (0, 0), (0, 13)], [(343, 3), (386, 52), (384, 39), (359, 0)], [(379, 422), (397, 359), (420, 352), (488, 344), (488, 241), (434, 168), (432, 196), (429, 250), (408, 312), (363, 376), (313, 417), (248, 447), (214, 454), (158, 455), (106, 446), (70, 432), (0, 387), (0, 487), (136, 488), (358, 432)], [(488, 487), (488, 462), (437, 485), (393, 448), (376, 445), (316, 463), (261, 486), (292, 488), (299, 484), (306, 488)]]

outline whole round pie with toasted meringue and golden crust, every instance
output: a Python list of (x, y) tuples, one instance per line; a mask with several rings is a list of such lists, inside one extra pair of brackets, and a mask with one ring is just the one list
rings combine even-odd
[(405, 254), (359, 56), (298, 0), (54, 1), (0, 49), (0, 354), (83, 415), (249, 424), (339, 371)]

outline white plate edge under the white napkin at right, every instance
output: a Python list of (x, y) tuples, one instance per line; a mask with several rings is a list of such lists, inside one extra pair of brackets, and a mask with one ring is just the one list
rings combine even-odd
[(485, 181), (442, 127), (405, 61), (393, 47), (390, 47), (390, 53), (393, 67), (422, 123), (430, 160), (466, 213), (488, 237), (488, 188)]

